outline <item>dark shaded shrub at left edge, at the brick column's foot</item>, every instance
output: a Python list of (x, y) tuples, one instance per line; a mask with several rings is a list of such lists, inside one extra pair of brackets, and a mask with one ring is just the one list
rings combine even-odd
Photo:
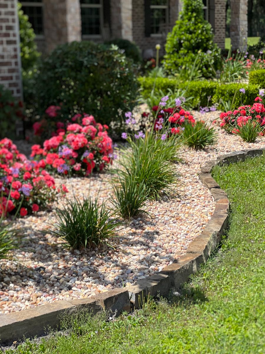
[(16, 122), (24, 118), (23, 103), (0, 85), (0, 138), (16, 136)]

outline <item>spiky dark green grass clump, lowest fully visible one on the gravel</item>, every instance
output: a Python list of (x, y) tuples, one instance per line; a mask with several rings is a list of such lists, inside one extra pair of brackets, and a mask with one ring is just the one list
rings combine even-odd
[(108, 245), (115, 234), (115, 229), (121, 225), (110, 219), (113, 214), (98, 200), (78, 199), (68, 201), (63, 209), (57, 209), (57, 222), (51, 233), (67, 242), (72, 249), (84, 251)]

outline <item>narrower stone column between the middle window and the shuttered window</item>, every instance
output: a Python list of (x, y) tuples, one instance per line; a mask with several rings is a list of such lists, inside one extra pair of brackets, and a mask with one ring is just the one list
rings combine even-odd
[(111, 0), (113, 38), (133, 40), (133, 0)]

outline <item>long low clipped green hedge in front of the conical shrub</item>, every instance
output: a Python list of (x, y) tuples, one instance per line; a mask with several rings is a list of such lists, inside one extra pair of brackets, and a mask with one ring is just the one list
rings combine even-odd
[[(261, 71), (261, 70), (257, 70)], [(167, 93), (167, 89), (174, 91), (175, 89), (186, 90), (186, 97), (194, 97), (190, 102), (193, 108), (199, 106), (205, 107), (208, 103), (208, 97), (211, 96), (210, 105), (217, 103), (219, 109), (223, 109), (221, 100), (223, 102), (232, 102), (235, 96), (235, 106), (238, 107), (242, 104), (252, 104), (255, 97), (259, 93), (260, 85), (255, 84), (219, 84), (215, 81), (189, 81), (179, 82), (176, 79), (169, 78), (139, 78), (139, 82), (142, 88), (141, 94), (143, 98), (150, 97), (151, 91), (154, 89), (155, 93), (159, 93), (162, 90), (163, 93)], [(239, 89), (244, 88), (245, 94), (239, 92)]]

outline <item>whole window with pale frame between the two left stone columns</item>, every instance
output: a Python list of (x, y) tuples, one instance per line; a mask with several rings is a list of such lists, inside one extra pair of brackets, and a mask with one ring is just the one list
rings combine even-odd
[(103, 23), (102, 0), (81, 0), (82, 35), (101, 35)]

